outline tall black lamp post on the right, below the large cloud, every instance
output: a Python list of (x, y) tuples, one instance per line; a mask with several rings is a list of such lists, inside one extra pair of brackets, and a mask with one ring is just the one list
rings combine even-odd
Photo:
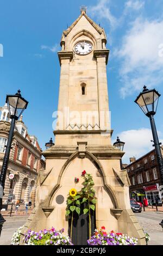
[[(142, 111), (147, 115), (151, 122), (151, 129), (153, 134), (153, 141), (154, 141), (154, 147), (156, 151), (156, 157), (158, 160), (159, 170), (160, 170), (160, 178), (161, 178), (161, 186), (160, 186), (160, 193), (161, 193), (161, 187), (163, 185), (163, 159), (160, 149), (159, 138), (158, 133), (156, 131), (155, 121), (153, 116), (156, 113), (156, 109), (158, 106), (159, 97), (161, 95), (155, 90), (148, 90), (146, 86), (143, 87), (142, 93), (137, 96), (135, 103), (139, 105), (139, 107), (142, 109)], [(163, 197), (163, 193), (161, 194), (161, 200)], [(163, 220), (162, 220), (162, 227), (163, 227)], [(161, 224), (160, 223), (160, 224)]]

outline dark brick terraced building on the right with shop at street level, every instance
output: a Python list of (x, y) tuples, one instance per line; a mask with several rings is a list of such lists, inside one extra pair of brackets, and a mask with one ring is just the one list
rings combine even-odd
[[(161, 151), (163, 154), (162, 147)], [(161, 198), (159, 192), (160, 172), (155, 149), (137, 160), (135, 157), (130, 158), (130, 164), (126, 166), (126, 169), (131, 183), (130, 198), (142, 202), (146, 197), (150, 203), (155, 202), (156, 197)]]

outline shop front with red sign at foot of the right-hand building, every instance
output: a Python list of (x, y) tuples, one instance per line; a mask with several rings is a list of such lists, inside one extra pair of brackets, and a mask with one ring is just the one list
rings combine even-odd
[(144, 191), (146, 193), (146, 198), (148, 199), (148, 204), (152, 205), (156, 202), (156, 198), (158, 198), (158, 203), (161, 204), (161, 196), (159, 191), (159, 184), (154, 184), (151, 186), (144, 186)]

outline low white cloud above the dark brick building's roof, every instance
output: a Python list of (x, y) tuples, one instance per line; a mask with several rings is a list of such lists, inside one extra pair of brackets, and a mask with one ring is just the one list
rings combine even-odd
[[(158, 131), (158, 135), (162, 138), (161, 132)], [(151, 139), (153, 140), (151, 129), (140, 128), (138, 130), (123, 131), (118, 136), (121, 141), (125, 142), (123, 163), (129, 163), (129, 157), (135, 156), (138, 159), (154, 149), (152, 147), (153, 142), (151, 142)], [(116, 139), (114, 139), (115, 141)], [(160, 139), (160, 142), (162, 142), (162, 139)]]

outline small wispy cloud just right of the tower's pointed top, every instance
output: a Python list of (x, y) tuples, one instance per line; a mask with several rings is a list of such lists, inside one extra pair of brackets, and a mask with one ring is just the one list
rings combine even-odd
[(105, 19), (109, 21), (112, 28), (115, 28), (117, 25), (117, 19), (114, 15), (111, 14), (110, 7), (108, 4), (110, 0), (99, 0), (97, 5), (93, 5), (88, 8), (89, 13), (92, 16), (97, 16), (98, 19)]

